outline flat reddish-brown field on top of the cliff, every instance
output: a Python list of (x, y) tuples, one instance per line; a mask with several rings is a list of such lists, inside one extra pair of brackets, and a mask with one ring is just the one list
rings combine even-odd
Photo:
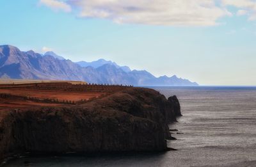
[(42, 83), (23, 80), (12, 84), (2, 81), (0, 84), (0, 111), (22, 107), (83, 104), (125, 88), (127, 86), (92, 85), (77, 81)]

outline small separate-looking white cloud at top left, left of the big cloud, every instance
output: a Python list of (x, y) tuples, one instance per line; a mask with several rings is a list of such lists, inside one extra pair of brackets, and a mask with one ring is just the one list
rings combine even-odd
[(53, 10), (63, 10), (64, 12), (71, 12), (71, 6), (69, 6), (64, 1), (59, 0), (40, 0), (40, 4), (44, 4)]

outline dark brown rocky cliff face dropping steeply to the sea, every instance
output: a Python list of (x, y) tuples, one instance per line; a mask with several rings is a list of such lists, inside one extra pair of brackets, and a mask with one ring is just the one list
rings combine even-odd
[(180, 115), (176, 97), (127, 88), (80, 106), (6, 111), (0, 159), (17, 152), (163, 151), (168, 123)]

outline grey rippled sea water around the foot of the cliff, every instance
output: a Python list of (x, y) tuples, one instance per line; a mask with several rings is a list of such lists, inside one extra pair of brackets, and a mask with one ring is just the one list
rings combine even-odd
[[(177, 95), (175, 151), (21, 157), (4, 166), (256, 166), (256, 87), (155, 87)], [(26, 164), (24, 163), (26, 162)]]

